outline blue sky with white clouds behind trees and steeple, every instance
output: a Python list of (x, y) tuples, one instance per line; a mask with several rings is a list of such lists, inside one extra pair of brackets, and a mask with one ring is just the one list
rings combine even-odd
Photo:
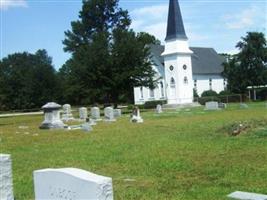
[[(15, 52), (46, 49), (56, 69), (69, 58), (63, 52), (64, 31), (78, 19), (81, 0), (0, 0), (1, 58)], [(267, 28), (267, 0), (180, 0), (190, 46), (235, 53), (248, 31)], [(132, 28), (146, 31), (164, 44), (168, 0), (120, 0)]]

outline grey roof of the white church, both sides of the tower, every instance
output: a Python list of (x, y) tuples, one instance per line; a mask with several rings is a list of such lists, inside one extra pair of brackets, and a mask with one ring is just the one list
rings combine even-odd
[[(190, 47), (190, 49), (194, 52), (192, 55), (193, 74), (221, 74), (223, 72), (224, 57), (218, 55), (213, 48)], [(161, 56), (164, 46), (150, 45), (150, 50), (155, 59), (164, 65), (164, 58)]]

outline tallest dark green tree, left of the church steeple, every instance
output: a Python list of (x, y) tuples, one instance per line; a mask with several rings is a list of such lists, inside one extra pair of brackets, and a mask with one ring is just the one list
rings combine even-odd
[(155, 39), (137, 35), (130, 24), (118, 0), (83, 1), (79, 20), (71, 23), (63, 41), (72, 57), (60, 75), (70, 84), (66, 90), (71, 103), (117, 103), (128, 100), (134, 86), (153, 85), (146, 44)]

